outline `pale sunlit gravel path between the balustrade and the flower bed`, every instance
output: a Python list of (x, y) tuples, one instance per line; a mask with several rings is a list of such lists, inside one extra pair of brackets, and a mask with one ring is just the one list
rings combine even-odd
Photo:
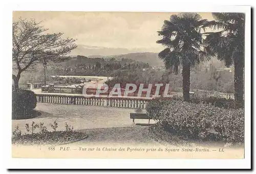
[[(104, 106), (84, 106), (68, 104), (37, 103), (35, 108), (42, 115), (26, 120), (12, 120), (12, 130), (18, 125), (22, 133), (26, 133), (25, 125), (32, 121), (35, 123), (44, 122), (47, 129), (52, 131), (49, 123), (57, 119), (57, 130), (65, 130), (65, 122), (74, 127), (74, 130), (109, 128), (109, 127), (129, 127), (132, 126), (130, 113), (134, 109), (104, 107)], [(136, 123), (147, 123), (147, 120), (135, 120)], [(151, 123), (154, 123), (152, 120)], [(35, 132), (38, 131), (38, 128)]]

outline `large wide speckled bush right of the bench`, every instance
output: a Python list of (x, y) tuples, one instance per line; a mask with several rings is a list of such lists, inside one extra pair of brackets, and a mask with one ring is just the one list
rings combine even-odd
[[(164, 101), (165, 100), (165, 101)], [(203, 103), (154, 99), (147, 104), (147, 113), (164, 129), (203, 140), (216, 132), (217, 140), (241, 143), (244, 140), (244, 111)]]

